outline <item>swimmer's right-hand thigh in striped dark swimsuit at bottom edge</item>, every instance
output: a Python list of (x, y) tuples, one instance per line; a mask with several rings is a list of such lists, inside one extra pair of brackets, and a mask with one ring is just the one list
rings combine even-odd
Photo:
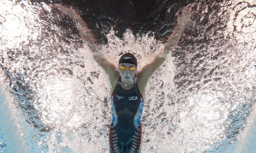
[(142, 126), (139, 124), (138, 130), (135, 131), (134, 136), (127, 144), (127, 153), (140, 153), (141, 152), (141, 138), (142, 138)]

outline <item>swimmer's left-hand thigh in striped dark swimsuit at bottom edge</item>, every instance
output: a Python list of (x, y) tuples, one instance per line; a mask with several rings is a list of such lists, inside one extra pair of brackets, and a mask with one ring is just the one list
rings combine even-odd
[(118, 140), (116, 130), (114, 129), (113, 123), (110, 124), (109, 142), (110, 142), (110, 153), (122, 153), (123, 152), (123, 150), (124, 150), (122, 147), (123, 145), (121, 144), (120, 140)]

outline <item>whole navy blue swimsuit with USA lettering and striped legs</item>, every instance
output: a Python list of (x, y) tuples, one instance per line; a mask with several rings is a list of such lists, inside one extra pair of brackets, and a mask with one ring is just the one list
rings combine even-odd
[(111, 96), (110, 152), (140, 152), (143, 105), (137, 83), (130, 90), (117, 84)]

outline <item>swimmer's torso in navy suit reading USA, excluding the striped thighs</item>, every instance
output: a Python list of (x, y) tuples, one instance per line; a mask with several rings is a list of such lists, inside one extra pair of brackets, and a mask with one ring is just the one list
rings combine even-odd
[(117, 83), (111, 96), (111, 111), (114, 129), (122, 143), (128, 143), (140, 129), (143, 105), (137, 84), (130, 90), (124, 90)]

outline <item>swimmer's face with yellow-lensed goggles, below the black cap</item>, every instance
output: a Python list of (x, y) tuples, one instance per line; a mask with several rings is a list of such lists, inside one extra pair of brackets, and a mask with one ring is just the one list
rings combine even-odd
[[(125, 68), (125, 69), (124, 69)], [(137, 67), (134, 64), (130, 63), (120, 63), (119, 64), (119, 74), (121, 76), (122, 82), (133, 82), (135, 79), (135, 74)]]

